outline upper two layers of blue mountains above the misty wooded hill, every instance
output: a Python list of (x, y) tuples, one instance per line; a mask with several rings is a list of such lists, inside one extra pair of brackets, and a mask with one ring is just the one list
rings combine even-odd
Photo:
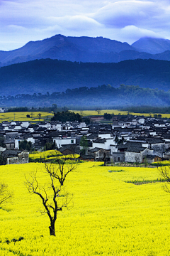
[[(0, 51), (0, 95), (59, 93), (108, 84), (115, 88), (125, 84), (167, 91), (167, 60), (170, 41), (162, 38), (140, 38), (130, 46), (102, 37), (56, 35), (16, 50)], [(140, 89), (135, 92), (140, 99), (138, 92)], [(95, 101), (95, 93), (91, 101), (92, 98)]]

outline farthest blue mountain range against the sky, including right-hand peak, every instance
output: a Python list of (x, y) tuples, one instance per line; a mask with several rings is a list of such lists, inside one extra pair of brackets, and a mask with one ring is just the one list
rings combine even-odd
[(1, 66), (42, 58), (84, 63), (118, 63), (137, 58), (170, 60), (170, 41), (162, 38), (140, 38), (130, 46), (128, 43), (103, 37), (56, 35), (42, 41), (30, 41), (16, 50), (0, 50)]

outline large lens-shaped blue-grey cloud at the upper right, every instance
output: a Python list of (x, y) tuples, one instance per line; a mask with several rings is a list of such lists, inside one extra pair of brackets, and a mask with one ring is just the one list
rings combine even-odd
[(106, 26), (123, 28), (145, 24), (160, 11), (152, 1), (118, 1), (99, 9), (92, 16)]

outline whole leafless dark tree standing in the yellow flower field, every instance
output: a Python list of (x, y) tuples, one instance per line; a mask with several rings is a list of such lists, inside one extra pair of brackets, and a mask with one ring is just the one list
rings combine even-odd
[[(65, 161), (64, 161), (65, 164)], [(47, 213), (50, 218), (50, 235), (55, 235), (55, 221), (57, 220), (57, 212), (62, 208), (69, 208), (69, 203), (72, 201), (72, 197), (69, 193), (64, 191), (63, 182), (69, 174), (75, 168), (71, 166), (71, 169), (64, 169), (64, 164), (47, 164), (44, 165), (43, 172), (47, 174), (49, 183), (45, 183), (44, 186), (40, 185), (38, 181), (37, 173), (34, 171), (26, 177), (26, 186), (28, 191), (32, 194), (38, 195), (42, 200), (42, 205), (45, 210), (42, 213)], [(59, 183), (57, 182), (59, 181)], [(60, 187), (56, 186), (58, 183)], [(48, 186), (47, 186), (48, 184)], [(62, 194), (61, 194), (62, 193)]]

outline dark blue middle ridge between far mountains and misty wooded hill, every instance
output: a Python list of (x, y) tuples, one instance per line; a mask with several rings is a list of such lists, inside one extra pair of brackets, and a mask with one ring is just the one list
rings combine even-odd
[(125, 84), (170, 90), (170, 62), (138, 59), (119, 63), (73, 63), (41, 59), (0, 68), (2, 96), (64, 92), (77, 87), (108, 84), (113, 87)]

